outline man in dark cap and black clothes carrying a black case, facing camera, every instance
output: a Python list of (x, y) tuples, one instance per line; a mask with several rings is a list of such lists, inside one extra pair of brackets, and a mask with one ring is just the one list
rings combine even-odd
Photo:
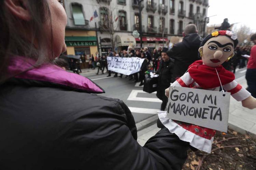
[(167, 48), (163, 48), (161, 52), (162, 60), (160, 61), (158, 70), (154, 73), (159, 74), (156, 96), (158, 99), (162, 100), (161, 111), (165, 111), (168, 102), (168, 98), (165, 96), (165, 89), (170, 87), (170, 83), (174, 82), (172, 78), (174, 63), (168, 57), (166, 53), (167, 50)]

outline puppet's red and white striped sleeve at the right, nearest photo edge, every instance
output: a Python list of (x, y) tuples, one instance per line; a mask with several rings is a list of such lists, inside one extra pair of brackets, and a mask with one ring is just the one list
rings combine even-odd
[(243, 88), (240, 84), (238, 84), (234, 80), (228, 84), (223, 85), (223, 88), (227, 92), (230, 92), (231, 96), (237, 101), (242, 101), (251, 96), (251, 93), (249, 91), (247, 91), (245, 88)]

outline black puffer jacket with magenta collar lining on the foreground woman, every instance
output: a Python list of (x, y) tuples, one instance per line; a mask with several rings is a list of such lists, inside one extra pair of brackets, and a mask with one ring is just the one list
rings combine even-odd
[(188, 142), (163, 128), (141, 147), (129, 108), (91, 94), (100, 92), (90, 80), (56, 68), (33, 69), (0, 85), (1, 169), (182, 168)]

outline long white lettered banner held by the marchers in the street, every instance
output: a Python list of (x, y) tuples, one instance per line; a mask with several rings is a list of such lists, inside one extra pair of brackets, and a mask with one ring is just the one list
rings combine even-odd
[(108, 69), (125, 75), (139, 72), (144, 60), (139, 57), (107, 57)]

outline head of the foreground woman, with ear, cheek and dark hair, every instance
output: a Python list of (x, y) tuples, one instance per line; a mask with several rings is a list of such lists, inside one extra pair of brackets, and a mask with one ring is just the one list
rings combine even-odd
[(39, 66), (65, 52), (66, 24), (57, 0), (0, 0), (0, 83), (9, 76), (10, 57), (29, 57)]

